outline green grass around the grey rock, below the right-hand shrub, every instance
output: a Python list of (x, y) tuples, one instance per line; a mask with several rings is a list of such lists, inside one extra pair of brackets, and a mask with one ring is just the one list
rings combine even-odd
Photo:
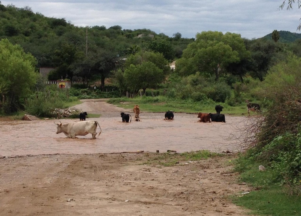
[[(279, 171), (254, 160), (252, 155), (252, 152), (240, 155), (235, 160), (235, 170), (240, 172), (240, 181), (255, 190), (243, 196), (232, 196), (232, 201), (252, 210), (250, 214), (254, 215), (301, 215), (301, 196), (295, 195), (294, 188), (281, 184)], [(259, 171), (259, 165), (265, 166), (265, 171)]]

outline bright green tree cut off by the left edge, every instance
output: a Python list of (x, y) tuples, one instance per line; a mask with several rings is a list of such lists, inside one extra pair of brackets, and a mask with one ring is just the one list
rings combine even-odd
[(36, 84), (35, 65), (35, 58), (20, 45), (13, 45), (8, 39), (0, 41), (0, 112), (15, 112), (21, 106), (19, 99), (26, 97)]

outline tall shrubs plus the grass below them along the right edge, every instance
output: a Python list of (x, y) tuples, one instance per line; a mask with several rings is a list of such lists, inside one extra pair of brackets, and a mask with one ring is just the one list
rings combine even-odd
[[(234, 200), (253, 214), (301, 215), (300, 69), (301, 59), (290, 56), (269, 70), (260, 89), (267, 109), (246, 128), (253, 137), (247, 137), (236, 170), (261, 190)], [(266, 170), (259, 172), (259, 165)]]

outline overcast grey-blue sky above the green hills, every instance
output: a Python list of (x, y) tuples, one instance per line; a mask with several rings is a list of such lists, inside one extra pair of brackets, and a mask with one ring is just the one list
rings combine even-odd
[[(75, 26), (115, 25), (123, 29), (151, 29), (169, 37), (180, 32), (219, 31), (261, 38), (273, 30), (296, 30), (301, 9), (278, 10), (283, 0), (11, 0), (2, 5), (28, 6), (46, 17), (65, 18)], [(300, 21), (301, 22), (301, 21)]]

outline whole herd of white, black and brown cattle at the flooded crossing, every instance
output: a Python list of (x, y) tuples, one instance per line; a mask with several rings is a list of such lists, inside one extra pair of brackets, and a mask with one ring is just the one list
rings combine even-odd
[[(257, 103), (248, 103), (247, 102), (247, 108), (248, 108), (248, 115), (250, 116), (250, 111), (260, 111), (260, 106)], [(223, 108), (221, 105), (216, 105), (215, 106), (215, 110), (216, 113), (198, 113), (197, 118), (200, 118), (199, 122), (226, 122), (225, 120), (225, 115), (224, 114), (220, 114), (223, 111)], [(140, 109), (138, 105), (134, 106), (133, 109), (134, 113), (135, 113), (135, 118), (137, 122), (139, 122), (139, 113), (140, 113)], [(121, 118), (122, 118), (122, 122), (132, 122), (132, 116), (130, 114), (126, 114), (124, 112), (120, 113)], [(83, 112), (79, 114), (79, 122), (70, 122), (67, 124), (57, 124), (57, 132), (56, 134), (60, 134), (60, 133), (64, 133), (67, 137), (69, 138), (76, 138), (76, 136), (85, 136), (87, 134), (92, 134), (92, 138), (91, 139), (96, 139), (96, 128), (97, 125), (100, 128), (100, 125), (97, 121), (85, 121), (86, 120), (86, 116), (88, 116), (87, 112)], [(174, 111), (172, 110), (168, 110), (165, 113), (165, 118), (164, 120), (173, 120), (174, 119)], [(100, 128), (100, 132), (98, 134), (98, 136), (101, 134), (101, 128)], [(97, 137), (98, 137), (97, 136)]]

